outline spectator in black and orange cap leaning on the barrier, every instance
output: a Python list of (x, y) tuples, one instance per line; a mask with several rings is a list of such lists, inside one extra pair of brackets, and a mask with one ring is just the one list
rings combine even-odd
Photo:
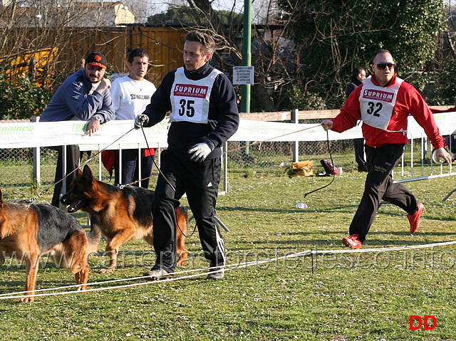
[[(100, 124), (108, 122), (114, 117), (113, 103), (109, 91), (110, 80), (103, 78), (106, 70), (106, 58), (101, 53), (90, 53), (86, 58), (84, 68), (66, 78), (53, 95), (51, 102), (43, 111), (40, 122), (57, 122), (66, 120), (88, 121), (89, 136), (100, 128)], [(55, 182), (63, 176), (63, 147), (56, 146), (58, 160)], [(78, 145), (66, 146), (66, 171), (73, 172), (75, 164), (79, 164), (80, 152)], [(73, 172), (66, 178), (66, 188), (73, 181)], [(62, 182), (54, 187), (52, 205), (57, 206), (62, 194)]]

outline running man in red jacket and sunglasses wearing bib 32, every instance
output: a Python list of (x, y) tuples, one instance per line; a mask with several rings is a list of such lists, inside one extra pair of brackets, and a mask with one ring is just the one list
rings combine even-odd
[(394, 183), (391, 176), (408, 142), (408, 115), (425, 130), (435, 148), (435, 157), (451, 162), (432, 112), (418, 90), (395, 75), (391, 53), (375, 52), (371, 67), (373, 75), (353, 91), (337, 117), (321, 122), (324, 130), (343, 132), (358, 120), (363, 121), (368, 175), (361, 203), (351, 221), (350, 236), (342, 239), (351, 248), (360, 248), (366, 240), (382, 199), (408, 213), (410, 234), (420, 226), (424, 205), (403, 184)]

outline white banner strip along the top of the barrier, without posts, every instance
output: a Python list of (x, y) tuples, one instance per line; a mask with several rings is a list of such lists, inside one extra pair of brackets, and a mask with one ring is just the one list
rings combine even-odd
[[(456, 130), (456, 112), (445, 112), (434, 115), (435, 122), (442, 135), (450, 135)], [(91, 137), (86, 133), (85, 121), (63, 122), (28, 122), (1, 123), (0, 148), (49, 147), (56, 145), (109, 145), (118, 137), (131, 130), (133, 120), (115, 120), (101, 125), (100, 130)], [(154, 127), (145, 128), (145, 135), (150, 147), (157, 147), (167, 142), (166, 120)], [(314, 127), (309, 130), (306, 128)], [(304, 131), (300, 131), (304, 130)], [(361, 126), (353, 127), (346, 132), (330, 132), (330, 140), (348, 140), (362, 137)], [(423, 128), (413, 119), (408, 118), (408, 137), (425, 137)], [(263, 122), (241, 120), (239, 130), (230, 141), (324, 141), (326, 132), (315, 124), (296, 124), (284, 122)], [(116, 145), (145, 143), (141, 130), (133, 130), (125, 135)], [(117, 149), (113, 147), (113, 149)]]

